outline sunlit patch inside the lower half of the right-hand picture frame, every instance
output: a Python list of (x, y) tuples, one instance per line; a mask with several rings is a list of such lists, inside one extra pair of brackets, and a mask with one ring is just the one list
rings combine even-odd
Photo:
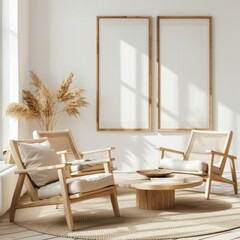
[[(208, 88), (186, 81), (178, 76), (173, 70), (161, 65), (160, 104), (162, 127), (171, 126), (181, 128), (182, 126), (194, 125), (195, 128), (201, 128), (209, 120)], [(188, 121), (186, 121), (186, 119)]]

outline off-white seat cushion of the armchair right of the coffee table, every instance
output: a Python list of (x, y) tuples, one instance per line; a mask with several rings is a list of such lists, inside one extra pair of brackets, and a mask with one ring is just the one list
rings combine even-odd
[[(178, 160), (163, 158), (159, 161), (159, 168), (172, 169), (177, 171), (205, 172), (208, 171), (208, 164), (201, 160)], [(213, 166), (213, 172), (219, 173), (219, 168)]]

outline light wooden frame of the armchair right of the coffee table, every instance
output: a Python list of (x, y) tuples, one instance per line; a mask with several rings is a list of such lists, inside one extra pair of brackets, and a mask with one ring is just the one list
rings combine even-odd
[[(226, 134), (226, 140), (225, 140), (225, 146), (223, 147), (223, 152), (219, 152), (216, 150), (205, 150), (204, 153), (202, 154), (208, 154), (210, 155), (210, 162), (208, 163), (208, 172), (191, 172), (191, 171), (175, 171), (174, 172), (178, 172), (178, 173), (187, 173), (187, 174), (194, 174), (194, 175), (198, 175), (203, 177), (203, 179), (206, 181), (206, 190), (205, 190), (205, 198), (209, 199), (209, 195), (210, 195), (210, 191), (211, 191), (211, 183), (212, 181), (217, 181), (217, 182), (223, 182), (223, 183), (228, 183), (228, 184), (232, 184), (233, 188), (234, 188), (234, 192), (235, 194), (238, 193), (238, 183), (237, 183), (237, 175), (236, 175), (236, 168), (235, 168), (235, 160), (237, 159), (236, 156), (230, 155), (229, 154), (229, 149), (231, 146), (231, 141), (232, 141), (232, 136), (233, 133), (232, 131), (229, 132), (217, 132), (217, 131), (199, 131), (199, 130), (192, 130), (191, 135), (190, 135), (190, 140), (189, 140), (189, 144), (188, 144), (188, 148), (186, 152), (183, 151), (179, 151), (179, 150), (175, 150), (175, 149), (170, 149), (170, 148), (164, 148), (164, 147), (159, 147), (157, 148), (157, 150), (160, 151), (160, 159), (163, 159), (165, 157), (165, 153), (166, 152), (171, 152), (174, 154), (180, 154), (182, 156), (183, 160), (188, 160), (189, 156), (191, 154), (192, 151), (192, 144), (193, 144), (193, 139), (194, 136), (196, 134)], [(221, 157), (221, 161), (219, 163), (219, 173), (216, 174), (212, 171), (216, 157), (220, 156)], [(224, 172), (224, 168), (226, 165), (226, 161), (229, 160), (230, 161), (230, 167), (231, 167), (231, 175), (232, 175), (232, 180), (227, 179), (225, 177), (223, 177), (223, 172)], [(161, 160), (160, 160), (161, 161)]]

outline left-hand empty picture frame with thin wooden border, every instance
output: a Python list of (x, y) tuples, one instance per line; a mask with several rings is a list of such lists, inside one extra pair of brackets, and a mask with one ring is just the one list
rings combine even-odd
[(151, 17), (97, 17), (97, 130), (151, 130)]

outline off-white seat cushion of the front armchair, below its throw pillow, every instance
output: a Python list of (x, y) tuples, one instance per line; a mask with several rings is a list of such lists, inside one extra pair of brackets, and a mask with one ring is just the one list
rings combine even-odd
[[(69, 194), (94, 191), (113, 184), (114, 179), (111, 173), (99, 173), (67, 179)], [(46, 186), (42, 186), (38, 189), (38, 196), (40, 199), (61, 195), (61, 186), (59, 181), (47, 184)]]

